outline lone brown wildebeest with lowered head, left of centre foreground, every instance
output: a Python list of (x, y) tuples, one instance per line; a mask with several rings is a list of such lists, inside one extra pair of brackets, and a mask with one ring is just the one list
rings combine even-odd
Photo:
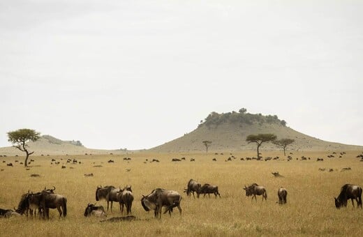
[(179, 209), (180, 215), (182, 215), (180, 201), (182, 201), (182, 196), (179, 192), (156, 188), (147, 196), (142, 195), (141, 205), (145, 211), (154, 210), (155, 217), (161, 218), (161, 208), (163, 208), (163, 206), (166, 206), (164, 214), (169, 212), (169, 215), (171, 216), (172, 208), (175, 208), (176, 206)]

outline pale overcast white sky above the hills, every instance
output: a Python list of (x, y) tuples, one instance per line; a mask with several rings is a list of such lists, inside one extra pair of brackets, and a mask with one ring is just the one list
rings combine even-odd
[(363, 145), (363, 1), (0, 1), (0, 146), (151, 148), (244, 107)]

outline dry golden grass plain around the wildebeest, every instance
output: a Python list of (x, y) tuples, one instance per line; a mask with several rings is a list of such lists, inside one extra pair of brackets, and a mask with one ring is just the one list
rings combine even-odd
[[(234, 153), (237, 158), (225, 162), (230, 154), (214, 153), (135, 153), (125, 155), (78, 155), (31, 157), (31, 169), (21, 165), (6, 167), (0, 163), (0, 207), (13, 208), (20, 196), (32, 190), (42, 190), (54, 185), (56, 192), (68, 199), (68, 216), (59, 218), (56, 210), (50, 211), (50, 220), (12, 217), (0, 219), (1, 236), (363, 236), (363, 211), (352, 208), (337, 210), (333, 197), (339, 194), (341, 185), (353, 183), (363, 185), (362, 166), (356, 155), (362, 151), (347, 151), (343, 158), (326, 158), (328, 152), (295, 152), (294, 159), (271, 161), (241, 161), (252, 157), (254, 151)], [(276, 156), (281, 152), (264, 153)], [(300, 161), (302, 155), (311, 160)], [(185, 157), (182, 162), (171, 162), (172, 158)], [(316, 158), (324, 162), (316, 162)], [(63, 158), (60, 165), (50, 165), (51, 158)], [(66, 164), (67, 158), (76, 158), (82, 164)], [(146, 162), (158, 158), (161, 162)], [(195, 162), (190, 162), (195, 158)], [(217, 158), (212, 162), (212, 158)], [(15, 158), (2, 158), (13, 162)], [(22, 158), (17, 158), (22, 159)], [(108, 160), (114, 163), (108, 163)], [(61, 169), (62, 162), (66, 169)], [(102, 165), (102, 167), (94, 167)], [(71, 169), (73, 167), (73, 169)], [(350, 171), (341, 171), (351, 167)], [(319, 171), (332, 168), (334, 171)], [(126, 171), (131, 169), (131, 171)], [(274, 177), (271, 172), (279, 171), (283, 178)], [(93, 173), (93, 177), (84, 174)], [(40, 174), (40, 177), (30, 177)], [(183, 192), (190, 178), (200, 183), (218, 185), (220, 198), (201, 197), (193, 199)], [(242, 187), (258, 183), (267, 188), (267, 201), (251, 201)], [(135, 201), (133, 222), (99, 222), (96, 218), (85, 218), (84, 208), (95, 203), (97, 185), (132, 185)], [(277, 190), (288, 190), (288, 204), (279, 206)], [(163, 215), (156, 220), (154, 214), (145, 212), (140, 204), (142, 194), (149, 194), (154, 188), (177, 190), (182, 194), (182, 216), (175, 209), (172, 217)], [(106, 207), (105, 201), (98, 204)], [(124, 213), (125, 214), (125, 213)], [(113, 205), (108, 217), (120, 216), (119, 205)]]

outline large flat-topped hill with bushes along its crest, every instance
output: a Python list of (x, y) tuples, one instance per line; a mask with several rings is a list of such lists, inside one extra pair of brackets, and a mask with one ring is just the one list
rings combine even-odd
[[(351, 146), (334, 142), (325, 142), (315, 137), (304, 135), (286, 126), (286, 121), (276, 115), (263, 116), (245, 111), (218, 114), (212, 112), (204, 122), (183, 137), (179, 137), (161, 146), (151, 148), (154, 152), (200, 152), (205, 151), (202, 141), (212, 141), (209, 151), (244, 151), (255, 149), (255, 144), (248, 144), (246, 137), (251, 134), (273, 133), (277, 139), (290, 138), (295, 142), (288, 146), (290, 151), (342, 151), (358, 150), (362, 146)], [(274, 144), (262, 144), (262, 150), (280, 150)]]

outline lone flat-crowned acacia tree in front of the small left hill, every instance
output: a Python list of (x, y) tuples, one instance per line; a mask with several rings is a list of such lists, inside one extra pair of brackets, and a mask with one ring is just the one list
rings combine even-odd
[(35, 130), (22, 128), (19, 130), (15, 130), (13, 132), (8, 132), (8, 142), (11, 142), (13, 146), (20, 151), (24, 151), (27, 156), (24, 161), (24, 166), (28, 166), (28, 158), (29, 155), (33, 154), (34, 151), (28, 151), (27, 142), (36, 142), (40, 138), (40, 132), (36, 132)]

